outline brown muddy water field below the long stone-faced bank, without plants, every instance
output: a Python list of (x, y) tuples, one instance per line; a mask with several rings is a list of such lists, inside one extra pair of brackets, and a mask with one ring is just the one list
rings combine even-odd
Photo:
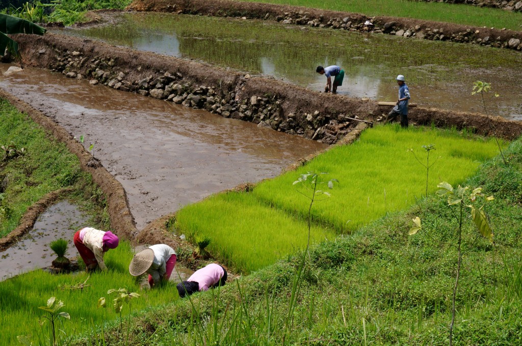
[(0, 86), (84, 135), (87, 149), (94, 144), (94, 156), (123, 184), (138, 229), (212, 193), (274, 177), (326, 147), (47, 70), (0, 77)]

